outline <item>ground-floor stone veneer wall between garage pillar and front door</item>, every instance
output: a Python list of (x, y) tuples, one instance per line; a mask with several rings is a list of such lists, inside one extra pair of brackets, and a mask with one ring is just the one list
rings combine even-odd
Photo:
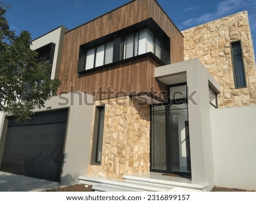
[[(89, 165), (88, 175), (122, 178), (149, 172), (150, 106), (137, 101), (125, 96), (96, 102), (106, 103), (102, 158), (101, 166)], [(90, 146), (91, 152), (92, 139)]]

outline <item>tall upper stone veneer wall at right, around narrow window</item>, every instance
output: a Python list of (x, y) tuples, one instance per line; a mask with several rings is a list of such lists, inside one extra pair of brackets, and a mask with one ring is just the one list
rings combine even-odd
[[(253, 43), (247, 11), (184, 30), (184, 58), (198, 58), (221, 87), (219, 107), (256, 104)], [(241, 40), (246, 88), (234, 87), (230, 42)]]

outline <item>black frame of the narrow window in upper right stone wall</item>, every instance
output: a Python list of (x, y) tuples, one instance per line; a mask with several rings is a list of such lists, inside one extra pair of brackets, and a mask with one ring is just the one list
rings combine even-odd
[[(243, 82), (244, 82), (244, 86), (239, 86), (237, 84), (237, 78), (238, 78), (238, 75), (237, 75), (237, 64), (235, 63), (235, 60), (234, 58), (236, 57), (234, 55), (234, 50), (233, 50), (233, 46), (234, 45), (239, 45), (240, 46), (240, 54), (236, 55), (236, 56), (240, 56), (241, 57), (241, 66), (242, 66), (242, 73), (243, 73)], [(231, 57), (232, 57), (232, 66), (233, 66), (233, 76), (234, 76), (234, 86), (236, 89), (239, 89), (239, 88), (246, 88), (247, 87), (247, 82), (246, 82), (246, 73), (245, 73), (245, 65), (244, 65), (244, 62), (243, 62), (243, 52), (242, 52), (242, 44), (241, 44), (241, 41), (238, 40), (238, 41), (232, 41), (230, 42), (230, 49), (231, 49)]]

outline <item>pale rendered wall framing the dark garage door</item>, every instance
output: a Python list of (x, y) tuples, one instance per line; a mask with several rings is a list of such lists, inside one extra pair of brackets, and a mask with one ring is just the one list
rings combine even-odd
[[(61, 170), (61, 185), (79, 183), (80, 175), (87, 175), (90, 159), (90, 140), (94, 115), (94, 97), (82, 92), (55, 96), (46, 101), (45, 107), (35, 112), (69, 108), (64, 144), (64, 160)], [(0, 165), (8, 129), (3, 116), (0, 128)]]

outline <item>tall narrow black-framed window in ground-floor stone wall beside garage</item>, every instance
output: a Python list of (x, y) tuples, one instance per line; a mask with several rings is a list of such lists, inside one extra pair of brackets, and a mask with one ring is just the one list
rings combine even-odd
[(102, 143), (104, 134), (104, 117), (105, 107), (99, 106), (95, 109), (94, 129), (93, 129), (93, 143), (92, 143), (92, 156), (90, 163), (93, 165), (101, 164)]

